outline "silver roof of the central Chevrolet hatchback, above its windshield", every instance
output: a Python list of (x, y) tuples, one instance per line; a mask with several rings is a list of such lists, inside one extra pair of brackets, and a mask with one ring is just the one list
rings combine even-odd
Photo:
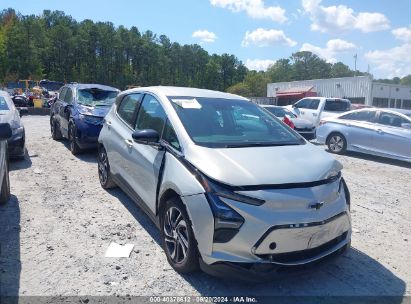
[(152, 92), (154, 94), (160, 94), (165, 96), (178, 96), (178, 97), (204, 97), (204, 98), (222, 98), (222, 99), (241, 99), (247, 100), (247, 98), (239, 95), (224, 93), (219, 91), (212, 91), (206, 89), (186, 88), (186, 87), (172, 87), (172, 86), (152, 86), (141, 87), (126, 90), (123, 93), (132, 92)]

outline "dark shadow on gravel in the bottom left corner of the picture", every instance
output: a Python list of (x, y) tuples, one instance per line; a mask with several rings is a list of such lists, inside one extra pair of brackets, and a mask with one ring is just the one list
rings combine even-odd
[(0, 296), (18, 296), (20, 272), (20, 207), (12, 195), (0, 206)]

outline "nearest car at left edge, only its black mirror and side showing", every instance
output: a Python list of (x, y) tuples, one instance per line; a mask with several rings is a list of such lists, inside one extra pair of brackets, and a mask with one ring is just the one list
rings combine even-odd
[(9, 164), (7, 155), (7, 139), (12, 135), (11, 127), (4, 123), (0, 115), (0, 204), (3, 205), (10, 199)]

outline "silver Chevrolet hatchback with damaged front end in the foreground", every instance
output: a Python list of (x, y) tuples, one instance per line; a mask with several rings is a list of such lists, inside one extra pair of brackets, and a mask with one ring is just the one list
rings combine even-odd
[(350, 246), (341, 164), (266, 110), (178, 87), (122, 92), (99, 137), (103, 188), (156, 223), (171, 266), (271, 275)]

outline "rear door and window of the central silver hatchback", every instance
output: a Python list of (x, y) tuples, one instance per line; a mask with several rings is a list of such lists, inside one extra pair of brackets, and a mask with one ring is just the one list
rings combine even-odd
[(131, 134), (134, 132), (135, 119), (140, 106), (142, 94), (126, 95), (115, 105), (115, 113), (110, 113), (105, 119), (107, 136), (107, 154), (110, 169), (113, 174), (130, 180), (130, 144)]

